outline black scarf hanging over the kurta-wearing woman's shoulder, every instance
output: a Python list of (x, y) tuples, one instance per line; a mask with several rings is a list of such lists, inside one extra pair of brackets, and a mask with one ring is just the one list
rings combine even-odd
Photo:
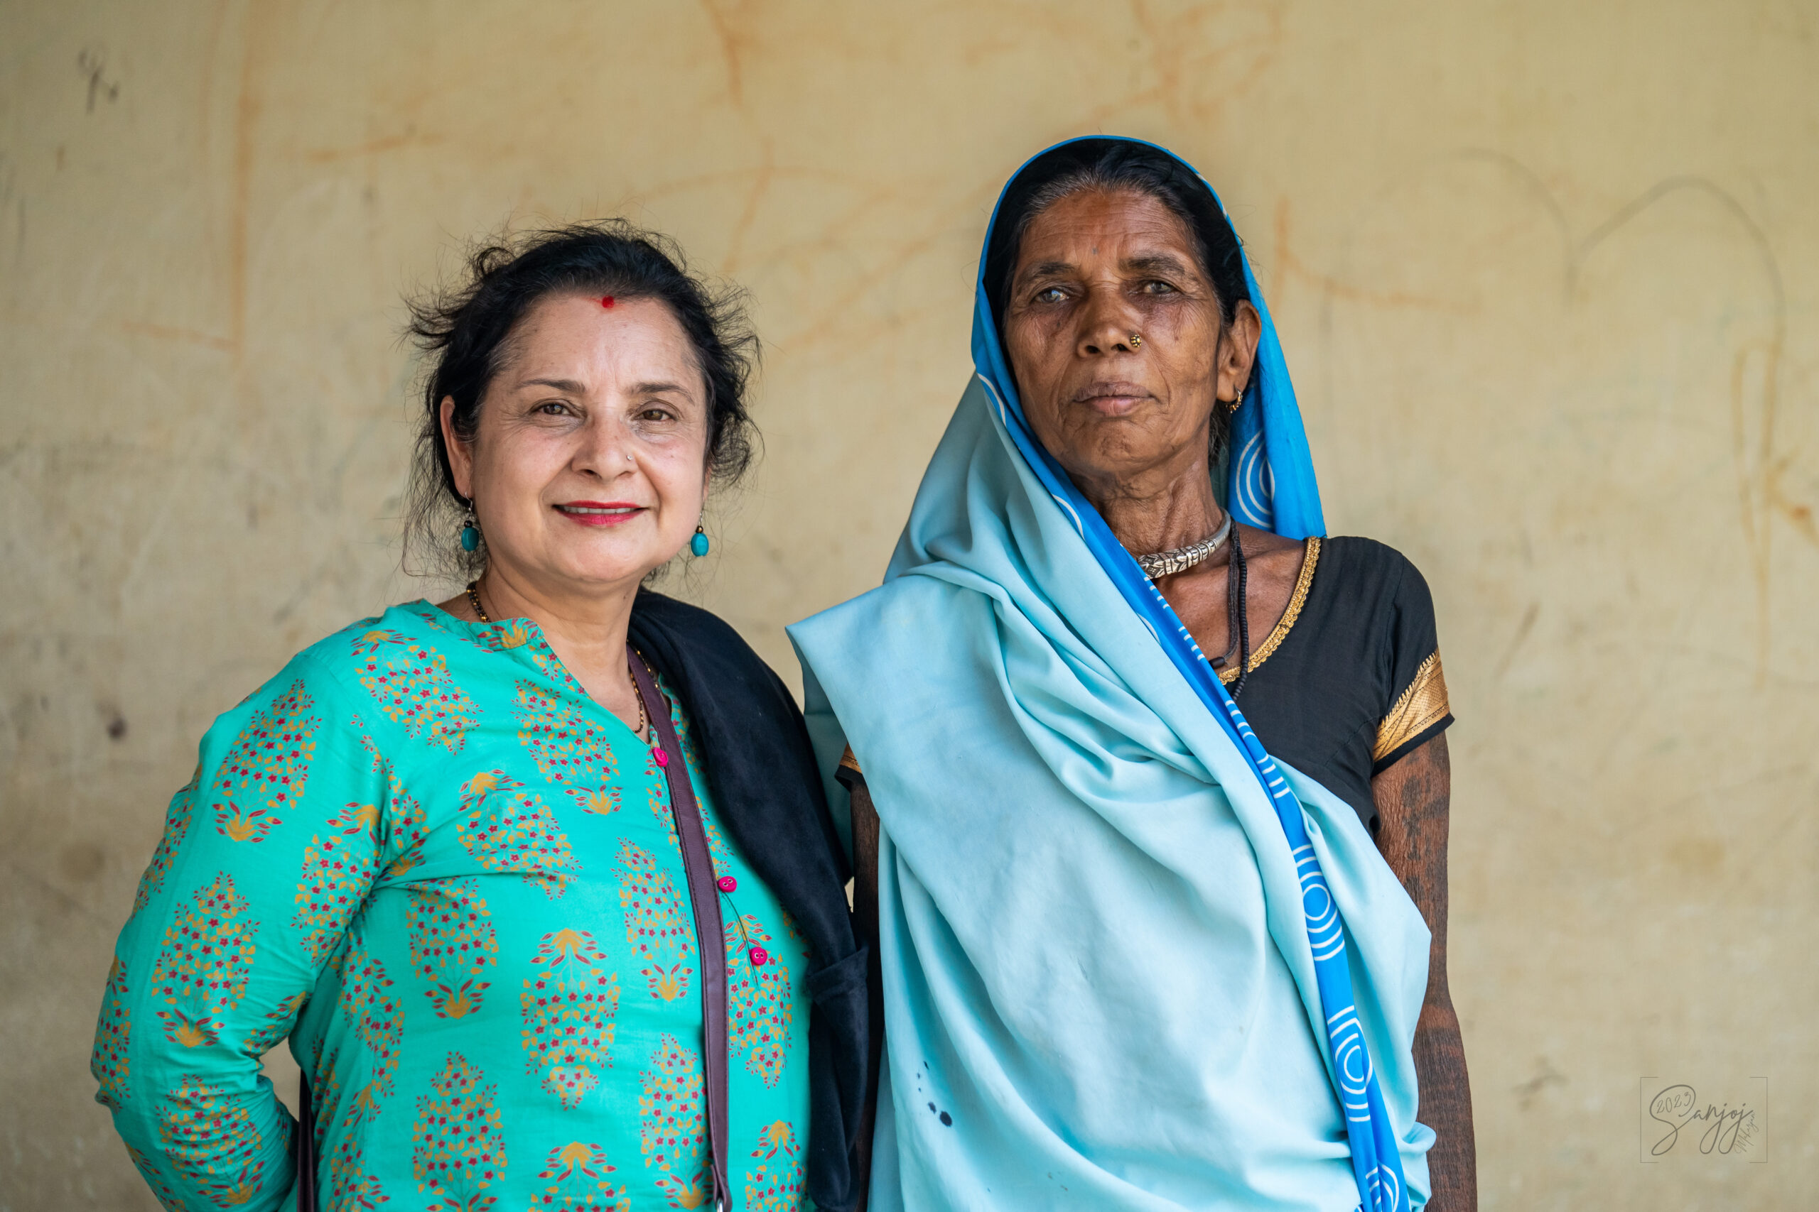
[(682, 698), (720, 823), (808, 939), (808, 1196), (848, 1212), (866, 1090), (866, 950), (846, 907), (851, 874), (802, 712), (782, 680), (724, 621), (640, 591), (631, 643)]

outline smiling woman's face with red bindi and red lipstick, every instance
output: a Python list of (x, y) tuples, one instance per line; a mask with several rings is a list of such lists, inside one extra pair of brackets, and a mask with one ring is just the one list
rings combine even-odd
[(442, 431), (487, 561), (546, 592), (637, 583), (695, 531), (708, 402), (668, 305), (557, 294), (511, 336), (471, 443)]

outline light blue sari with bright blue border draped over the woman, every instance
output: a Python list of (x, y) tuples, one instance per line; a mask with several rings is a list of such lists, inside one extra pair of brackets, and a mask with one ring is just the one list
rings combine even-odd
[[(1033, 440), (984, 260), (886, 583), (789, 629), (822, 769), (851, 745), (882, 823), (873, 1207), (1421, 1207), (1421, 914)], [(1228, 498), (1319, 532), (1251, 293)]]

